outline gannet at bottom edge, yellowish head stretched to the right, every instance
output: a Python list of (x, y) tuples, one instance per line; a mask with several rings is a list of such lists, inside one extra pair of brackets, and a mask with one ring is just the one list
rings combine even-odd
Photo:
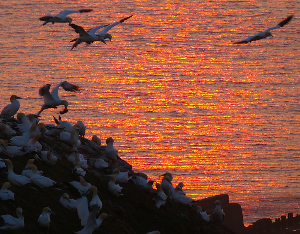
[(91, 212), (88, 214), (86, 226), (82, 228), (80, 231), (75, 232), (77, 234), (92, 234), (98, 227), (100, 227), (102, 221), (109, 217), (110, 215), (107, 215), (105, 213), (100, 214), (98, 218), (97, 214), (99, 211), (99, 207), (97, 205), (93, 205), (91, 208)]

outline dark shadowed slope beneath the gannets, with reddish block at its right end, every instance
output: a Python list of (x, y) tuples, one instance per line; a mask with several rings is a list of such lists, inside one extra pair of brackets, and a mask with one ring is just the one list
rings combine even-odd
[[(1, 116), (3, 122), (14, 127), (17, 120), (12, 117)], [(0, 133), (0, 137), (5, 139), (7, 136)], [(221, 200), (222, 208), (226, 213), (223, 224), (214, 221), (205, 222), (202, 216), (189, 205), (182, 205), (170, 199), (159, 209), (155, 207), (153, 201), (153, 193), (139, 190), (131, 180), (128, 183), (120, 184), (123, 189), (124, 196), (115, 198), (111, 196), (107, 189), (109, 179), (105, 175), (113, 172), (118, 167), (121, 171), (130, 171), (130, 175), (136, 175), (131, 169), (132, 166), (121, 158), (117, 159), (117, 164), (109, 162), (106, 169), (96, 169), (95, 161), (98, 158), (108, 162), (105, 156), (105, 146), (98, 146), (94, 142), (79, 137), (82, 143), (79, 152), (88, 159), (88, 171), (84, 179), (98, 188), (98, 196), (100, 197), (103, 208), (101, 213), (107, 213), (112, 217), (106, 218), (101, 226), (93, 233), (118, 233), (118, 234), (145, 234), (154, 230), (166, 233), (215, 233), (215, 234), (233, 234), (242, 233), (240, 229), (243, 226), (243, 218), (241, 209), (238, 204), (229, 203), (228, 195), (223, 194), (212, 198), (207, 198), (198, 203), (205, 208), (208, 214), (212, 214), (217, 199)], [(59, 140), (58, 136), (49, 137), (43, 135), (39, 140), (44, 151), (48, 151), (54, 146), (53, 154), (58, 157), (55, 166), (47, 166), (43, 162), (35, 160), (34, 164), (38, 170), (44, 171), (44, 175), (56, 181), (54, 187), (38, 188), (35, 186), (11, 186), (9, 189), (15, 193), (14, 203), (0, 200), (0, 215), (10, 214), (16, 217), (15, 210), (17, 207), (23, 209), (25, 218), (25, 227), (18, 231), (0, 231), (1, 233), (46, 233), (38, 229), (37, 220), (44, 207), (48, 206), (55, 213), (51, 215), (51, 223), (48, 233), (73, 233), (82, 229), (77, 212), (64, 208), (59, 203), (59, 198), (63, 193), (68, 193), (70, 198), (75, 198), (72, 191), (65, 185), (67, 182), (79, 181), (72, 175), (73, 165), (67, 161), (67, 156), (71, 154), (71, 147)], [(39, 154), (38, 154), (39, 155)], [(1, 155), (1, 158), (8, 158)], [(24, 169), (29, 155), (22, 157), (9, 158), (13, 163), (13, 171), (21, 174)], [(5, 170), (0, 171), (0, 186), (7, 181)], [(88, 195), (90, 201), (91, 195)], [(1, 223), (2, 221), (2, 223)], [(0, 226), (3, 220), (0, 220)], [(235, 231), (235, 232), (234, 232)]]

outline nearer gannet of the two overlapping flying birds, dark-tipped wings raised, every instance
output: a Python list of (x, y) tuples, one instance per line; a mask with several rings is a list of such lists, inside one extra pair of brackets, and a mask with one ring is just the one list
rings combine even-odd
[[(76, 48), (76, 46), (78, 44), (80, 44), (81, 42), (86, 42), (85, 46), (88, 46), (89, 44), (91, 44), (94, 41), (102, 41), (104, 44), (106, 44), (103, 37), (95, 35), (95, 32), (98, 29), (103, 27), (102, 25), (98, 26), (98, 27), (95, 27), (93, 29), (90, 29), (89, 32), (86, 32), (81, 26), (78, 26), (76, 24), (70, 24), (70, 26), (73, 29), (75, 29), (76, 33), (79, 33), (79, 38), (76, 38), (76, 39), (72, 40), (72, 41), (75, 41), (75, 43), (73, 44), (71, 50), (73, 48)], [(70, 42), (72, 42), (72, 41), (70, 41)]]

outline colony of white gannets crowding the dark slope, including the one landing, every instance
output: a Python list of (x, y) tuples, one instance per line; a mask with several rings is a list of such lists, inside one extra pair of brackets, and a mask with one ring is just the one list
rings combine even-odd
[[(113, 169), (113, 173), (106, 175), (110, 179), (107, 184), (107, 192), (113, 197), (123, 195), (122, 187), (119, 183), (127, 183), (131, 180), (141, 190), (154, 194), (154, 204), (158, 209), (162, 205), (165, 205), (169, 198), (191, 206), (195, 203), (193, 199), (186, 196), (183, 192), (183, 183), (179, 183), (178, 186), (173, 187), (173, 176), (171, 173), (161, 175), (163, 179), (161, 183), (155, 183), (156, 189), (154, 189), (153, 184), (155, 181), (147, 181), (147, 179), (142, 176), (128, 176), (128, 171), (121, 172), (117, 164), (118, 151), (114, 148), (114, 140), (111, 137), (106, 140), (107, 146), (105, 147), (105, 155), (107, 161), (99, 157), (93, 165), (89, 165), (88, 160), (78, 151), (82, 146), (82, 139), (86, 130), (82, 121), (79, 120), (75, 125), (72, 125), (67, 121), (63, 121), (61, 116), (59, 116), (58, 119), (53, 116), (55, 124), (45, 124), (39, 119), (44, 110), (57, 108), (59, 105), (64, 106), (64, 110), (61, 111), (61, 114), (66, 113), (68, 102), (59, 98), (58, 90), (62, 87), (66, 91), (77, 92), (79, 91), (79, 87), (65, 81), (60, 82), (50, 92), (50, 86), (49, 84), (44, 85), (39, 90), (39, 94), (44, 96), (44, 104), (38, 114), (26, 115), (25, 113), (19, 112), (16, 115), (20, 107), (18, 99), (21, 99), (17, 95), (12, 95), (10, 97), (11, 104), (5, 106), (1, 111), (0, 154), (2, 159), (0, 159), (0, 167), (3, 170), (7, 169), (7, 179), (1, 179), (1, 183), (3, 183), (0, 190), (1, 200), (14, 200), (14, 193), (9, 190), (10, 186), (20, 187), (21, 192), (22, 186), (32, 186), (36, 189), (42, 189), (45, 187), (55, 187), (57, 185), (57, 182), (46, 177), (51, 175), (44, 175), (42, 171), (38, 170), (34, 162), (41, 161), (49, 167), (55, 167), (58, 158), (61, 157), (55, 155), (54, 146), (48, 151), (43, 151), (43, 146), (39, 143), (39, 140), (43, 136), (59, 136), (61, 142), (70, 146), (71, 151), (67, 157), (67, 162), (69, 166), (73, 168), (73, 175), (79, 180), (69, 182), (66, 187), (66, 190), (72, 190), (72, 196), (75, 196), (76, 199), (70, 199), (69, 194), (65, 193), (65, 191), (61, 192), (61, 198), (59, 199), (62, 206), (78, 212), (78, 217), (81, 220), (83, 228), (76, 233), (92, 233), (101, 225), (104, 218), (109, 217), (109, 215), (105, 213), (98, 216), (102, 209), (102, 202), (98, 196), (97, 187), (86, 182), (84, 179), (86, 172), (91, 167), (107, 168), (109, 167), (109, 163), (111, 163), (111, 166), (116, 166), (116, 168)], [(14, 117), (14, 115), (16, 115), (16, 119), (11, 118), (11, 116)], [(96, 135), (92, 137), (92, 142), (101, 146), (101, 140)], [(28, 162), (21, 175), (13, 172), (13, 164), (10, 158), (15, 157), (28, 158)], [(89, 193), (92, 193), (92, 198), (88, 203), (87, 195)], [(207, 222), (210, 221), (210, 215), (206, 214), (206, 211), (202, 211), (201, 207), (197, 207), (196, 209), (204, 220)], [(38, 226), (48, 229), (51, 214), (53, 214), (52, 210), (49, 207), (45, 207), (37, 219)], [(24, 227), (24, 217), (22, 216), (21, 207), (16, 209), (16, 215), (18, 218), (9, 214), (2, 215), (4, 225), (0, 226), (0, 230), (22, 229)], [(222, 222), (224, 218), (224, 212), (220, 208), (220, 201), (216, 201), (216, 208), (212, 218), (218, 222)]]

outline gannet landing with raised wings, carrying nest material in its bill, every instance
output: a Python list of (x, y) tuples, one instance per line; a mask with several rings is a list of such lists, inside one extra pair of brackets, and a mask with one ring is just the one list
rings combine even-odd
[(59, 87), (64, 88), (66, 91), (77, 92), (79, 91), (79, 87), (76, 85), (72, 85), (67, 81), (60, 82), (55, 88), (52, 88), (50, 93), (49, 84), (44, 85), (39, 89), (39, 95), (44, 96), (44, 105), (41, 107), (41, 110), (38, 113), (38, 116), (42, 113), (43, 110), (48, 108), (57, 108), (57, 106), (64, 105), (64, 110), (60, 112), (60, 114), (67, 113), (67, 107), (69, 103), (66, 100), (61, 100), (58, 96)]

